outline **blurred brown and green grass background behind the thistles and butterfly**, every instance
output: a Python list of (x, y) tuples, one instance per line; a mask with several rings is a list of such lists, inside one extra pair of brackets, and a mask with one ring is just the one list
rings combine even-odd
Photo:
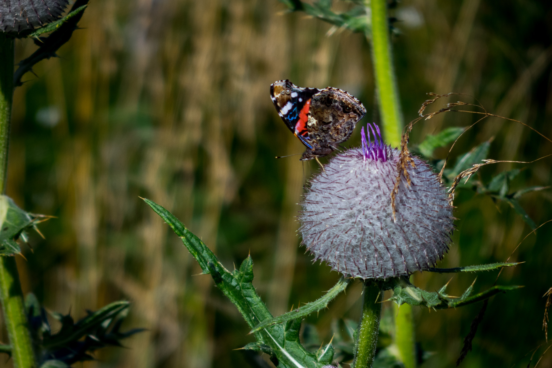
[[(27, 260), (18, 257), (24, 292), (73, 317), (126, 298), (133, 302), (127, 326), (148, 329), (126, 340), (128, 349), (104, 351), (83, 366), (248, 366), (232, 350), (252, 340), (240, 314), (208, 275), (197, 275), (182, 243), (139, 196), (171, 210), (227, 268), (251, 253), (254, 284), (275, 314), (337, 281), (298, 247), (302, 184), (319, 168), (297, 156), (274, 159), (304, 147), (275, 113), (268, 90), (286, 78), (342, 88), (366, 106), (362, 124), (378, 121), (370, 49), (363, 35), (327, 36), (330, 25), (284, 10), (276, 0), (95, 0), (60, 57), (39, 63), (38, 78), (26, 74), (16, 90), (8, 195), (28, 211), (58, 216), (40, 226), (45, 240), (31, 238), (34, 253), (27, 248)], [(552, 136), (552, 4), (405, 0), (391, 15), (401, 31), (394, 55), (406, 122), (425, 93), (454, 91)], [(21, 60), (36, 46), (22, 40), (16, 47)], [(416, 125), (411, 143), (474, 119), (438, 115)], [(531, 161), (551, 153), (534, 132), (491, 118), (466, 133), (453, 156), (491, 137), (490, 158)], [(358, 132), (349, 143), (359, 143)], [(481, 175), (526, 167), (514, 188), (549, 185), (551, 163), (501, 164)], [(550, 191), (522, 199), (538, 225), (552, 218), (551, 203)], [(503, 262), (530, 231), (506, 204), (473, 191), (459, 190), (455, 205), (458, 231), (440, 266)], [(500, 282), (526, 287), (491, 300), (464, 366), (525, 366), (524, 355), (544, 342), (551, 236), (545, 225), (514, 254), (526, 263), (503, 271)], [(450, 294), (474, 277), (455, 276)], [(480, 275), (477, 290), (495, 277)], [(412, 279), (434, 291), (449, 276)], [(358, 318), (360, 289), (352, 285), (319, 318), (307, 319), (326, 342), (333, 319)], [(414, 308), (416, 339), (434, 352), (423, 367), (454, 366), (479, 308)], [(540, 366), (552, 366), (550, 351)]]

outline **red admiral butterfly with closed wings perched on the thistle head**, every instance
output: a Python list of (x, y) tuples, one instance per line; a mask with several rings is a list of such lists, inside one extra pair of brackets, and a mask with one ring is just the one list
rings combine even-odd
[(366, 114), (362, 103), (344, 90), (301, 88), (288, 79), (270, 84), (270, 98), (285, 125), (307, 147), (301, 161), (337, 150)]

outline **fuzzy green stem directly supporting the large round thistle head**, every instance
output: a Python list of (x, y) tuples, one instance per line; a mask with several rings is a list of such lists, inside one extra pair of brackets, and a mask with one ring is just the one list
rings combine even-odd
[(379, 322), (381, 317), (381, 303), (378, 297), (381, 287), (374, 281), (368, 280), (364, 284), (362, 317), (357, 329), (357, 341), (354, 347), (354, 368), (369, 368), (372, 366), (378, 344)]

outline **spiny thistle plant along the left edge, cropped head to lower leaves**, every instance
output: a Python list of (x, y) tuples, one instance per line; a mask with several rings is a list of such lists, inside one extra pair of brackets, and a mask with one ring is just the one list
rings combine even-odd
[[(0, 2), (0, 299), (9, 344), (0, 344), (0, 352), (13, 358), (15, 368), (68, 368), (79, 361), (93, 360), (92, 353), (104, 346), (121, 346), (120, 340), (139, 332), (121, 332), (120, 326), (129, 302), (111, 303), (74, 322), (67, 314), (51, 312), (61, 323), (52, 332), (46, 312), (33, 294), (26, 299), (19, 282), (15, 255), (21, 253), (26, 231), (51, 216), (35, 215), (20, 209), (6, 193), (9, 130), (14, 88), (22, 86), (22, 77), (45, 58), (55, 57), (77, 29), (88, 0), (76, 0), (61, 17), (67, 0), (41, 2), (3, 0)], [(50, 33), (49, 36), (41, 35)], [(14, 39), (33, 38), (38, 49), (19, 62), (14, 72)]]

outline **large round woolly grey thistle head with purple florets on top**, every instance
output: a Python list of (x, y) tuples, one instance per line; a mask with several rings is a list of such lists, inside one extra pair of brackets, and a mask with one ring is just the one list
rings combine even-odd
[(422, 159), (408, 166), (395, 197), (399, 150), (383, 143), (378, 126), (362, 129), (362, 147), (333, 157), (311, 180), (299, 216), (302, 244), (344, 275), (369, 279), (409, 275), (442, 259), (454, 230), (445, 188)]

